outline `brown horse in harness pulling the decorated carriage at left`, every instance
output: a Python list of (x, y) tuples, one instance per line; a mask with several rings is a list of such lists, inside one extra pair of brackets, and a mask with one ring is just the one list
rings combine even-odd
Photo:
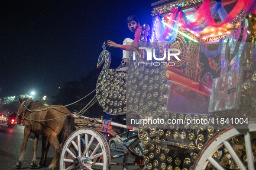
[[(31, 167), (36, 166), (37, 142), (39, 135), (42, 135), (42, 155), (44, 155), (47, 138), (52, 148), (55, 150), (55, 157), (49, 165), (49, 170), (54, 170), (56, 168), (62, 148), (60, 143), (64, 143), (68, 136), (75, 130), (74, 119), (68, 114), (70, 114), (70, 111), (62, 105), (44, 106), (42, 102), (35, 102), (32, 98), (24, 98), (23, 100), (19, 98), (17, 119), (22, 117), (23, 125), (25, 127), (23, 144), (19, 155), (19, 161), (15, 165), (16, 168), (20, 168), (23, 164), (26, 144), (31, 132), (35, 133), (33, 145), (34, 156)], [(39, 165), (43, 163), (43, 157), (44, 156), (41, 157)]]

